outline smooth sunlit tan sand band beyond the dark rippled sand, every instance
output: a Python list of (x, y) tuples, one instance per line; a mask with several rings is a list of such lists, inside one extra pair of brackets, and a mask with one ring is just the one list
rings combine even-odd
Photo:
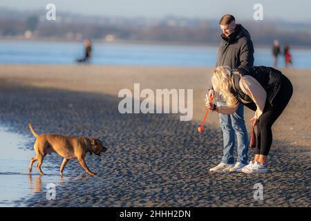
[[(133, 84), (143, 88), (192, 88), (194, 89), (194, 122), (200, 122), (205, 113), (205, 93), (213, 68), (168, 68), (131, 66), (46, 66), (0, 65), (0, 79), (7, 83), (24, 84), (40, 88), (111, 95), (117, 99), (122, 88), (133, 92)], [(292, 81), (294, 94), (285, 113), (274, 124), (274, 138), (292, 145), (311, 146), (311, 70), (281, 69)], [(120, 99), (119, 99), (120, 101)], [(245, 108), (245, 121), (254, 112)], [(219, 126), (216, 113), (209, 114), (209, 125)]]

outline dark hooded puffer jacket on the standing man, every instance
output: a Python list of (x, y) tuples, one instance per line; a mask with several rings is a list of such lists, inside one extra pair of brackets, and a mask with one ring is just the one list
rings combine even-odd
[(249, 32), (241, 24), (236, 24), (236, 30), (225, 37), (221, 35), (217, 66), (241, 68), (254, 65), (254, 46)]

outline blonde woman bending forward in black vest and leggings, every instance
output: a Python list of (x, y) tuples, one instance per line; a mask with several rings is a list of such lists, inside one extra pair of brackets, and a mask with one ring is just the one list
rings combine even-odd
[(214, 70), (211, 83), (223, 93), (227, 105), (205, 104), (211, 111), (231, 115), (244, 104), (255, 111), (251, 119), (257, 126), (254, 162), (241, 170), (244, 173), (267, 173), (267, 155), (272, 145), (272, 125), (279, 118), (292, 97), (292, 83), (274, 68), (258, 66), (232, 69), (226, 66)]

